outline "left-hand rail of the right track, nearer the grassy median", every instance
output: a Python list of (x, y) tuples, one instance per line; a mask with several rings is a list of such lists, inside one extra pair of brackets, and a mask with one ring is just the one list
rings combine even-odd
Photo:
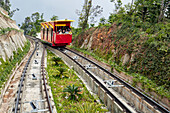
[(131, 111), (119, 100), (117, 99), (99, 80), (97, 80), (84, 66), (82, 66), (80, 63), (76, 62), (72, 57), (64, 53), (63, 51), (59, 50), (64, 55), (66, 55), (68, 58), (70, 58), (72, 61), (74, 61), (78, 66), (80, 66), (97, 84), (100, 85), (101, 88), (103, 88), (106, 93), (113, 98), (113, 100), (123, 109), (126, 113), (131, 113)]

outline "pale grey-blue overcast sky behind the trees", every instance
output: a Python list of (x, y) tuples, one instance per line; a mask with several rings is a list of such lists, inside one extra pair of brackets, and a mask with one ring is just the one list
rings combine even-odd
[[(72, 19), (74, 27), (78, 25), (78, 15), (76, 10), (81, 10), (84, 0), (10, 0), (12, 9), (19, 8), (15, 13), (13, 19), (17, 24), (24, 21), (25, 17), (31, 16), (32, 13), (44, 13), (44, 19), (50, 21), (53, 15), (59, 19)], [(123, 4), (127, 4), (131, 0), (122, 0)], [(99, 18), (105, 17), (108, 19), (110, 13), (114, 10), (114, 4), (110, 0), (93, 0), (93, 5), (100, 5), (103, 7), (103, 13)]]

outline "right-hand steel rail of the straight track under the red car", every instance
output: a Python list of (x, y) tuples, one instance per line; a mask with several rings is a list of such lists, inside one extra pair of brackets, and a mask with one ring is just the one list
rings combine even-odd
[(127, 88), (131, 89), (131, 91), (133, 91), (134, 93), (136, 93), (138, 96), (140, 96), (141, 98), (143, 98), (146, 102), (148, 102), (149, 104), (151, 104), (152, 106), (155, 107), (155, 109), (158, 109), (159, 111), (161, 111), (162, 113), (170, 113), (170, 111), (168, 111), (166, 108), (164, 108), (162, 105), (158, 104), (156, 101), (154, 101), (153, 99), (151, 99), (150, 97), (146, 96), (145, 94), (143, 94), (142, 92), (140, 92), (139, 90), (137, 90), (136, 88), (132, 87), (130, 84), (126, 83), (124, 80), (122, 80), (120, 77), (114, 75), (113, 73), (111, 73), (110, 71), (104, 69), (103, 67), (101, 67), (100, 65), (96, 64), (95, 62), (93, 62), (92, 60), (76, 53), (73, 50), (70, 50), (68, 48), (65, 48), (68, 51), (71, 51), (72, 53), (84, 58), (85, 60), (89, 61), (90, 63), (96, 65), (97, 67), (99, 67), (101, 70), (105, 71), (106, 73), (108, 73), (111, 77), (114, 77), (116, 80), (118, 80), (120, 83), (122, 83), (124, 86), (126, 86)]

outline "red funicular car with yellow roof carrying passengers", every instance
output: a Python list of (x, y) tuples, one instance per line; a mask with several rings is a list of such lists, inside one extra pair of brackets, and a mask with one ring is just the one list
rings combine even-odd
[(72, 42), (71, 22), (74, 20), (55, 20), (41, 23), (41, 40), (51, 46), (70, 45)]

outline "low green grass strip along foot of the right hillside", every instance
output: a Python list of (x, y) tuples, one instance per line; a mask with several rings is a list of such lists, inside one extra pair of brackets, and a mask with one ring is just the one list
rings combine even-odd
[[(138, 73), (132, 73), (126, 70), (124, 66), (117, 65), (117, 63), (106, 60), (105, 56), (103, 54), (98, 54), (97, 52), (90, 52), (86, 49), (80, 49), (74, 46), (69, 46), (70, 48), (77, 50), (79, 52), (82, 52), (84, 55), (89, 55), (95, 58), (98, 61), (104, 62), (106, 64), (109, 64), (111, 66), (111, 71), (113, 71), (113, 68), (116, 69), (118, 72), (124, 72), (126, 75), (133, 76), (133, 83), (132, 85), (136, 87), (137, 83), (142, 83), (142, 89), (146, 92), (154, 91), (161, 95), (162, 97), (167, 97), (170, 99), (170, 90), (167, 90), (164, 86), (158, 86), (156, 82), (150, 80), (148, 77), (145, 77), (142, 74)], [(100, 52), (101, 53), (101, 52)], [(108, 54), (107, 54), (108, 55)]]

